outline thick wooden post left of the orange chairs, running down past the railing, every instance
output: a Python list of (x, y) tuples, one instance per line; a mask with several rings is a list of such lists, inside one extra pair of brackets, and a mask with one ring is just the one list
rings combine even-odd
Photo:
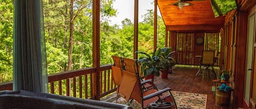
[(99, 93), (99, 83), (100, 83), (100, 1), (93, 0), (92, 2), (92, 20), (93, 20), (93, 30), (92, 30), (92, 66), (96, 68), (96, 73), (93, 73), (93, 90), (92, 95), (96, 100), (100, 99)]

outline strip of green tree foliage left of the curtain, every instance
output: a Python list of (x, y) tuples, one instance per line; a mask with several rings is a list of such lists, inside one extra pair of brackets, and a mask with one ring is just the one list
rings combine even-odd
[(13, 1), (0, 0), (0, 82), (13, 79)]

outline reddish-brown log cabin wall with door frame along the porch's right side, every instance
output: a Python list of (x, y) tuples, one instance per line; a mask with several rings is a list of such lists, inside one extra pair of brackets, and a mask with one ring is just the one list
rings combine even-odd
[[(231, 103), (234, 108), (249, 108), (243, 98), (246, 74), (246, 46), (248, 11), (252, 10), (256, 1), (238, 0), (238, 10), (225, 16), (222, 34), (221, 67), (230, 72), (230, 86), (234, 89)], [(254, 6), (255, 7), (255, 6)], [(223, 69), (222, 68), (222, 69)], [(251, 107), (250, 107), (251, 108)]]

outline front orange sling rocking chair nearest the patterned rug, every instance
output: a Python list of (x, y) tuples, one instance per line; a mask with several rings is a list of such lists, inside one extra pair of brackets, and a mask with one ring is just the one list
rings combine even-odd
[[(156, 88), (151, 88), (146, 91), (142, 89), (140, 76), (138, 73), (138, 63), (136, 60), (123, 58), (123, 64), (126, 69), (122, 70), (123, 76), (118, 87), (118, 93), (120, 96), (129, 100), (136, 100), (141, 105), (142, 108), (147, 108), (150, 106), (157, 107), (170, 107), (176, 108), (176, 103), (171, 94), (170, 88), (165, 88), (160, 91)], [(163, 94), (169, 92), (169, 94)]]

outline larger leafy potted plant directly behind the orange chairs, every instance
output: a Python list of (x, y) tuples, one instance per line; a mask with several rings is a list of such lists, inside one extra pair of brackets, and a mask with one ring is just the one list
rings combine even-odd
[(135, 53), (142, 54), (143, 56), (139, 58), (138, 62), (142, 63), (141, 70), (144, 71), (145, 79), (154, 79), (154, 75), (159, 76), (160, 70), (160, 49), (154, 49), (152, 55), (142, 52), (136, 51)]

